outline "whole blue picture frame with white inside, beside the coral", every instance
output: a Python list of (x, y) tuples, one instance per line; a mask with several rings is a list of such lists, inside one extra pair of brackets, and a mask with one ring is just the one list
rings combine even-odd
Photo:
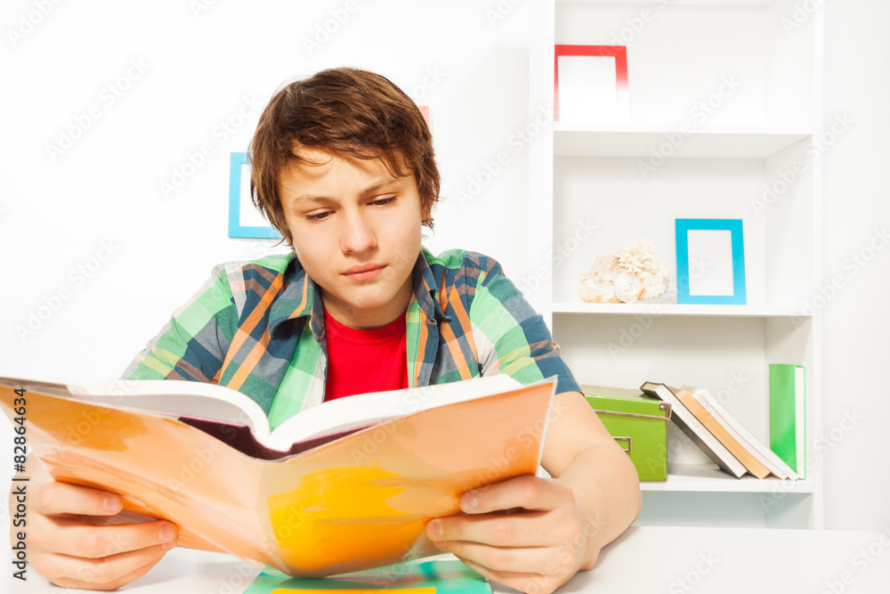
[(675, 220), (676, 302), (746, 305), (741, 219)]

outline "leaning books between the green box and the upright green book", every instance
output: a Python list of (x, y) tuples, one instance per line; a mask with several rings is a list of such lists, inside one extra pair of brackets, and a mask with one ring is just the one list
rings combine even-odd
[(749, 473), (757, 478), (797, 479), (795, 469), (733, 418), (708, 390), (654, 382), (646, 382), (640, 389), (669, 403), (676, 426), (732, 476), (741, 478)]

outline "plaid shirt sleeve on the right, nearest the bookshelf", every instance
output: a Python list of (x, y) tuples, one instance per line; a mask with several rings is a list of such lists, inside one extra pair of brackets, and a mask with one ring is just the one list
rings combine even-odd
[(580, 392), (543, 316), (493, 260), (479, 274), (469, 317), (482, 375), (498, 370), (522, 383), (556, 376), (557, 394)]

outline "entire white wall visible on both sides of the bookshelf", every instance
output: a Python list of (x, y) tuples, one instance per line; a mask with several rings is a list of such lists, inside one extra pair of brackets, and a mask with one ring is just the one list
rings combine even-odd
[[(213, 264), (268, 250), (271, 242), (226, 236), (228, 154), (247, 146), (260, 109), (253, 102), (263, 105), (292, 77), (335, 65), (376, 69), (429, 104), (444, 196), (465, 191), (528, 121), (527, 2), (492, 24), (486, 11), (495, 0), (355, 0), (312, 53), (304, 40), (352, 3), (208, 4), (196, 13), (202, 0), (92, 0), (53, 4), (45, 15), (34, 0), (0, 6), (0, 375), (116, 377)], [(823, 278), (845, 279), (822, 310), (825, 525), (878, 529), (890, 525), (883, 459), (890, 450), (883, 389), (890, 248), (855, 275), (845, 262), (876, 229), (890, 226), (881, 183), (890, 131), (890, 6), (825, 4), (826, 120), (837, 113), (855, 120), (823, 155)], [(27, 32), (13, 38), (10, 31)], [(132, 61), (147, 67), (138, 77), (131, 70), (134, 80), (111, 103), (105, 88)], [(99, 118), (51, 158), (47, 146), (93, 105)], [(223, 138), (217, 126), (242, 109), (247, 118)], [(205, 142), (214, 154), (165, 197), (159, 183)], [(497, 256), (514, 278), (530, 273), (527, 167), (525, 152), (511, 153), (475, 198), (446, 200), (427, 244)], [(77, 272), (81, 266), (94, 267), (89, 278)], [(45, 319), (31, 318), (38, 313)], [(856, 424), (839, 434), (848, 413)], [(11, 448), (2, 443), (6, 460)], [(3, 476), (11, 466), (3, 463)]]

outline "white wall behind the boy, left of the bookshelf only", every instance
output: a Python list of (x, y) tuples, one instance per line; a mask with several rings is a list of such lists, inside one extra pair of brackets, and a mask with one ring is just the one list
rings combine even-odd
[[(0, 375), (117, 377), (214, 264), (262, 256), (273, 242), (227, 237), (229, 153), (279, 85), (331, 66), (430, 106), (444, 201), (426, 244), (526, 272), (526, 153), (457, 192), (528, 122), (528, 5), (492, 22), (473, 1), (45, 4), (0, 8)], [(176, 172), (193, 173), (169, 191)]]

